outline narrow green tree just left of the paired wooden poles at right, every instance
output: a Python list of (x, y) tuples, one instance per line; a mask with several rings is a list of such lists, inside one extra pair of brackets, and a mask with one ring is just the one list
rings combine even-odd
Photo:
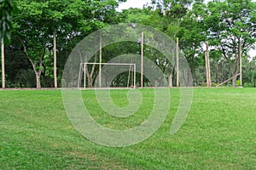
[(205, 3), (195, 2), (188, 13), (183, 17), (177, 37), (180, 37), (180, 48), (182, 48), (187, 59), (196, 84), (199, 77), (195, 74), (196, 70), (204, 61), (204, 45), (207, 41), (207, 28), (203, 23), (201, 9), (206, 8)]

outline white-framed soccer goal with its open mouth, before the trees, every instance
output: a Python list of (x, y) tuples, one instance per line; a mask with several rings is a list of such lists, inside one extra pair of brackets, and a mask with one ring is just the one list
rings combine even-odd
[(136, 88), (136, 64), (80, 63), (78, 88)]

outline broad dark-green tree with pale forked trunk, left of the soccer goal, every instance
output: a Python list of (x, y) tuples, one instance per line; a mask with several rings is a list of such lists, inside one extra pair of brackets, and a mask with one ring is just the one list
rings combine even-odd
[[(32, 64), (37, 88), (41, 88), (44, 57), (47, 51), (53, 49), (54, 37), (58, 35), (58, 41), (65, 46), (76, 38), (81, 39), (91, 31), (120, 20), (115, 9), (122, 1), (17, 0), (20, 13), (15, 15), (15, 33), (20, 37), (24, 52)], [(56, 67), (54, 77), (56, 81)]]

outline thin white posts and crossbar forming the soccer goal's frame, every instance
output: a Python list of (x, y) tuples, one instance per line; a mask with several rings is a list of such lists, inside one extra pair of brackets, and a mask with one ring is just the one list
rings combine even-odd
[[(133, 86), (132, 87), (136, 88), (136, 64), (133, 64), (133, 63), (89, 63), (89, 62), (80, 63), (78, 88), (80, 87), (80, 83), (81, 83), (82, 71), (84, 71), (84, 88), (86, 88), (86, 65), (100, 65), (100, 66), (101, 65), (133, 65), (134, 70), (133, 70)], [(131, 68), (129, 70), (129, 75), (130, 75), (130, 73), (131, 73)], [(99, 77), (99, 78), (101, 81), (102, 77)], [(128, 81), (128, 84), (129, 84), (129, 81)], [(127, 88), (128, 88), (128, 84), (127, 84)]]

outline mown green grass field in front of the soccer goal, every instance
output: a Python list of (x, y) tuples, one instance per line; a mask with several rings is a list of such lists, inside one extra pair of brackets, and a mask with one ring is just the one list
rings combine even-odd
[[(108, 116), (94, 91), (83, 91), (91, 115), (106, 127), (140, 124), (153, 90), (140, 89), (135, 116)], [(112, 90), (127, 105), (126, 90)], [(140, 144), (109, 148), (85, 139), (69, 122), (61, 90), (0, 91), (0, 169), (256, 169), (256, 88), (195, 88), (183, 127), (170, 135), (180, 89), (171, 89), (166, 121)]]

